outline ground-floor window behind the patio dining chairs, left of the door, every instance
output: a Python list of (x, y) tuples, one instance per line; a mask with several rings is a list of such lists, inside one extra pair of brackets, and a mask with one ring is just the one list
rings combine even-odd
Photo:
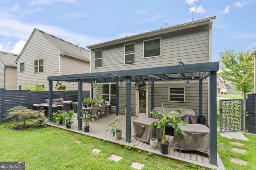
[(102, 99), (116, 106), (116, 84), (102, 84)]

